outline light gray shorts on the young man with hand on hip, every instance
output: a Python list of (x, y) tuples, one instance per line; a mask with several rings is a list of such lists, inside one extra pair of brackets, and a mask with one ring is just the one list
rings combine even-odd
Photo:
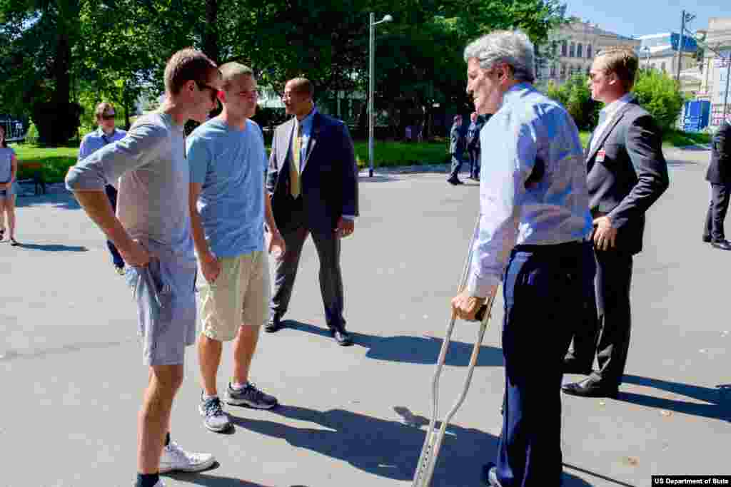
[(127, 266), (125, 275), (137, 302), (143, 363), (183, 364), (186, 346), (195, 343), (195, 262), (154, 258), (147, 269)]

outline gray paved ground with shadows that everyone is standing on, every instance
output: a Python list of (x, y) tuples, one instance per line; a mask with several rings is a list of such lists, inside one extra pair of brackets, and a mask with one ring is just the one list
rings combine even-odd
[[(667, 151), (670, 190), (652, 208), (635, 261), (632, 350), (617, 400), (564, 397), (565, 483), (648, 486), (652, 474), (730, 474), (731, 256), (700, 241), (707, 151)], [(361, 214), (343, 245), (346, 318), (356, 345), (325, 332), (317, 256), (306, 244), (288, 328), (263, 334), (253, 380), (272, 412), (229, 407), (232, 434), (197, 413), (197, 358), (173, 437), (219, 466), (178, 486), (409, 486), (430, 383), (477, 215), (475, 183), (444, 175), (361, 177)], [(0, 244), (0, 486), (131, 486), (146, 371), (135, 309), (104, 240), (65, 191), (18, 200), (22, 248)], [(501, 301), (433, 486), (477, 487), (493, 459), (503, 389)], [(536, 323), (536, 326), (541, 326)], [(461, 386), (474, 326), (458, 325), (443, 409)], [(219, 383), (232, 367), (224, 351)], [(575, 378), (575, 377), (567, 377)], [(726, 385), (726, 386), (724, 386)]]

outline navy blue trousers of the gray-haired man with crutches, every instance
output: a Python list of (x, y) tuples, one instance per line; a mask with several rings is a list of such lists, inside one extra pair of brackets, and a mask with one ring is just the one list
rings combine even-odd
[(563, 359), (594, 272), (589, 242), (512, 250), (503, 285), (505, 400), (497, 459), (504, 487), (561, 485)]

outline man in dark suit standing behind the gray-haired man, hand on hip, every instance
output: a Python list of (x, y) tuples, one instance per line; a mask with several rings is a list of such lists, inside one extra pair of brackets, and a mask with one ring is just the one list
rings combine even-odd
[[(642, 250), (645, 212), (669, 185), (660, 131), (630, 93), (637, 64), (629, 47), (609, 47), (589, 72), (591, 96), (605, 107), (586, 150), (596, 304), (586, 303), (586, 322), (564, 360), (565, 372), (589, 375), (563, 386), (575, 396), (618, 394), (629, 350), (632, 256)], [(592, 371), (595, 353), (599, 370)]]

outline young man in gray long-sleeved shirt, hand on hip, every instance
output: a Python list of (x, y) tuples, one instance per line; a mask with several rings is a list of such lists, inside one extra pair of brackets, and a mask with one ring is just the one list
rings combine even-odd
[[(188, 212), (189, 165), (183, 125), (216, 107), (221, 73), (200, 51), (183, 49), (165, 67), (165, 101), (124, 139), (69, 169), (67, 187), (129, 267), (143, 361), (150, 367), (138, 419), (136, 487), (163, 487), (159, 473), (195, 472), (213, 456), (170, 442), (170, 411), (195, 340), (195, 256)], [(105, 185), (119, 179), (117, 215)]]

